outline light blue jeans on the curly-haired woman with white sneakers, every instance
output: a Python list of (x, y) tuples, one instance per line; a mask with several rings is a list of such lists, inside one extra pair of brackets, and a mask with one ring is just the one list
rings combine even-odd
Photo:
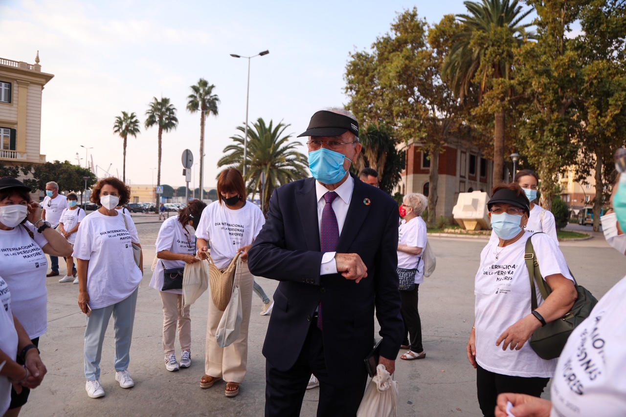
[(123, 371), (130, 363), (130, 342), (133, 338), (133, 322), (137, 304), (136, 288), (128, 297), (111, 306), (96, 308), (87, 318), (85, 329), (85, 377), (87, 381), (100, 379), (100, 358), (105, 341), (106, 327), (113, 314), (115, 330), (115, 370)]

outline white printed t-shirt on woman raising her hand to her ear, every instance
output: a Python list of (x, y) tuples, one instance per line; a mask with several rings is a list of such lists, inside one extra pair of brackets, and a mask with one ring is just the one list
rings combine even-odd
[(13, 314), (28, 337), (34, 339), (48, 329), (48, 259), (41, 249), (48, 240), (28, 221), (24, 226), (34, 238), (21, 224), (11, 230), (0, 230), (0, 274), (11, 288)]

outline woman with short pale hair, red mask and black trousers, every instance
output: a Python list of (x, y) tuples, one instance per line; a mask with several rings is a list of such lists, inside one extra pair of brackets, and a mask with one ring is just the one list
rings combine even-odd
[(400, 206), (400, 217), (404, 219), (398, 231), (398, 277), (404, 320), (404, 343), (401, 348), (408, 348), (400, 359), (405, 361), (426, 358), (418, 311), (419, 284), (424, 282), (422, 252), (426, 248), (426, 223), (420, 216), (426, 207), (428, 199), (418, 193), (406, 194)]

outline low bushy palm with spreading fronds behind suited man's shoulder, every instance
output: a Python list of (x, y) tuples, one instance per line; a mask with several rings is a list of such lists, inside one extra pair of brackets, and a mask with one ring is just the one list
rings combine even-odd
[[(252, 198), (259, 191), (264, 213), (267, 213), (269, 199), (275, 188), (309, 176), (307, 157), (296, 149), (302, 144), (297, 141), (289, 142), (290, 134), (282, 136), (289, 126), (290, 124), (281, 122), (274, 127), (271, 120), (266, 125), (259, 118), (248, 129), (248, 167), (244, 180)], [(245, 134), (245, 126), (237, 126), (237, 130)], [(243, 171), (244, 136), (237, 134), (230, 139), (235, 143), (224, 148), (223, 152), (228, 154), (217, 161), (217, 166)], [(265, 184), (262, 182), (263, 176)]]

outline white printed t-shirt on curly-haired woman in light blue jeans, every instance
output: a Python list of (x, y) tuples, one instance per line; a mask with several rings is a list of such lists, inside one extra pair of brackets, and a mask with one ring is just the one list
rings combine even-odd
[[(124, 223), (128, 221), (128, 230)], [(74, 258), (89, 261), (87, 292), (92, 309), (104, 308), (128, 297), (141, 282), (132, 242), (140, 243), (135, 223), (127, 214), (85, 216), (76, 232)]]

